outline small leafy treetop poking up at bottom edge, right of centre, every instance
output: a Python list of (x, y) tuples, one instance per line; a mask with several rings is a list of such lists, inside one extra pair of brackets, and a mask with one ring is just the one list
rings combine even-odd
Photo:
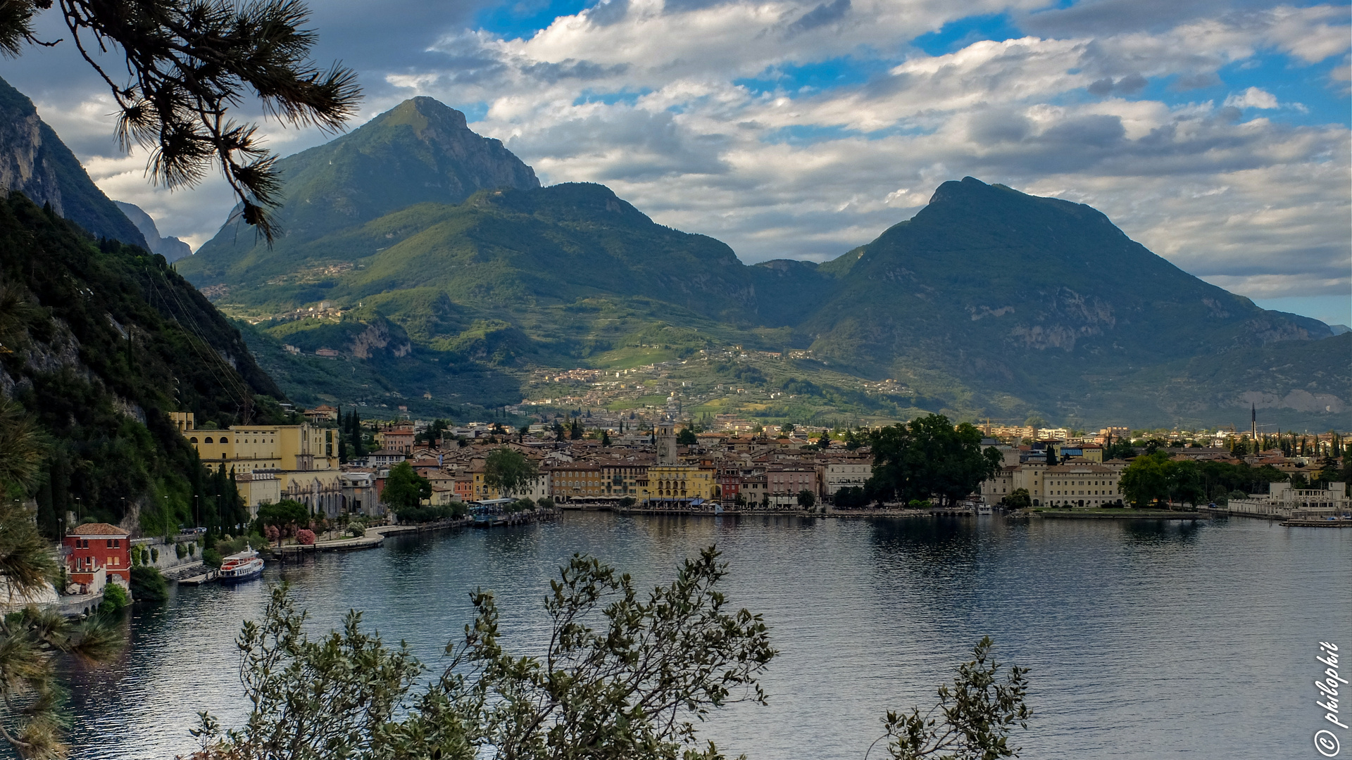
[(1009, 745), (1009, 733), (1015, 725), (1026, 729), (1033, 717), (1023, 700), (1028, 668), (1013, 665), (1000, 680), (994, 646), (990, 637), (982, 638), (973, 650), (976, 659), (957, 667), (952, 687), (938, 687), (938, 703), (923, 715), (915, 707), (910, 714), (888, 713), (883, 719), (887, 733), (873, 744), (888, 740), (887, 752), (895, 760), (940, 753), (942, 760), (1018, 757), (1019, 749)]

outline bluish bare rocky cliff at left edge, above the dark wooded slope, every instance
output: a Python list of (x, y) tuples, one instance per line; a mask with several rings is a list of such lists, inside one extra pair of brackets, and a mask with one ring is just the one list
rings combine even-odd
[(146, 245), (145, 235), (103, 195), (70, 149), (18, 89), (0, 80), (0, 189), (51, 204), (96, 238)]

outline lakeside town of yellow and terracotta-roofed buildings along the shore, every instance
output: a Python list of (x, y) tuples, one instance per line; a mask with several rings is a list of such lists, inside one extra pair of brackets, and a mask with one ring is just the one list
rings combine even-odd
[[(519, 419), (531, 406), (503, 412)], [(1234, 514), (1284, 525), (1352, 525), (1345, 483), (1330, 480), (1330, 473), (1343, 472), (1344, 437), (1263, 435), (1256, 422), (1242, 433), (964, 425), (979, 431), (979, 448), (990, 464), (968, 492), (945, 503), (938, 494), (921, 500), (880, 495), (872, 485), (877, 429), (787, 423), (765, 429), (737, 415), (706, 418), (710, 427), (704, 429), (681, 417), (676, 394), (664, 406), (623, 412), (579, 408), (564, 417), (537, 411), (519, 426), (452, 425), (411, 419), (407, 412), (364, 419), (356, 410), (327, 404), (289, 414), (295, 419), (289, 425), (218, 427), (199, 425), (192, 412), (172, 412), (178, 434), (207, 471), (233, 481), (243, 519), (234, 526), (216, 519), (210, 529), (183, 526), (177, 536), (139, 537), (134, 525), (76, 525), (80, 518), (70, 513), (66, 519), (74, 527), (62, 540), (70, 599), (62, 607), (96, 606), (104, 584), (127, 586), (131, 568), (139, 564), (184, 583), (215, 577), (223, 557), (219, 552), (214, 563), (207, 557), (203, 533), (210, 530), (253, 530), (264, 545), (250, 552), (270, 546), (280, 556), (370, 548), (395, 531), (492, 526), (562, 510), (811, 517), (1000, 510), (1032, 517), (1174, 519)], [(519, 462), (516, 477), (495, 472), (495, 458), (507, 453)], [(1211, 484), (1198, 494), (1175, 492), (1144, 504), (1136, 498), (1133, 508), (1124, 473), (1146, 460), (1242, 468), (1252, 473), (1252, 490), (1261, 492)], [(387, 499), (395, 491), (387, 491), (387, 484), (400, 469), (423, 491), (412, 502), (399, 498), (403, 503), (392, 504), (397, 499)], [(285, 503), (300, 511), (279, 518), (276, 506)]]

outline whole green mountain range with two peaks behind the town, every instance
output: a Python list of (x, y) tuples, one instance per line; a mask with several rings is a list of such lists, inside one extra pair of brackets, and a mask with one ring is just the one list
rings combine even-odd
[[(352, 169), (370, 156), (384, 173)], [(623, 369), (731, 345), (796, 353), (710, 362), (681, 387), (764, 398), (707, 411), (1172, 425), (1229, 422), (1261, 399), (1274, 421), (1326, 427), (1352, 400), (1322, 322), (1203, 283), (1094, 208), (972, 177), (833, 261), (746, 266), (603, 185), (537, 187), (429, 99), (283, 164), (293, 185), (276, 247), (227, 223), (178, 269), (257, 323), (251, 348), (301, 403), (458, 414), (446, 404), (519, 400), (531, 368)], [(389, 189), (377, 201), (369, 183)], [(307, 358), (322, 349), (341, 364)], [(1280, 369), (1320, 362), (1329, 369), (1307, 377)], [(798, 406), (765, 403), (786, 395)]]

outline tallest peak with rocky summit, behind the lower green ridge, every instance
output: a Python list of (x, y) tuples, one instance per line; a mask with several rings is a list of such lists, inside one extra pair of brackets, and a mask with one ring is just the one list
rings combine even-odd
[(416, 203), (460, 203), (481, 189), (538, 188), (535, 172), (503, 143), (469, 130), (465, 115), (414, 97), (329, 143), (277, 164), (284, 181), (268, 247), (227, 223), (180, 266), (192, 277), (265, 277), (306, 266), (320, 238)]

